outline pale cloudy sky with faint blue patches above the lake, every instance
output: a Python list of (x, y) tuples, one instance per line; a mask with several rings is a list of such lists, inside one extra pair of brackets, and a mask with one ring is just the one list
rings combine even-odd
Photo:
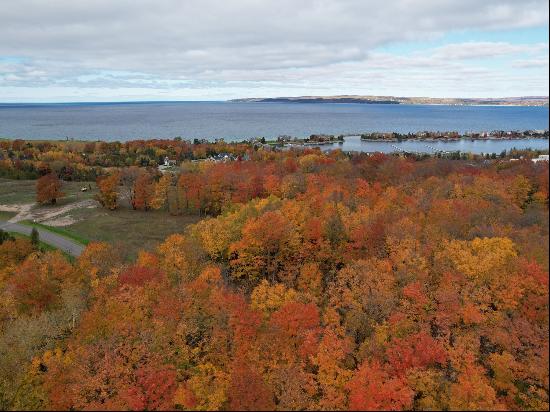
[(2, 0), (0, 102), (548, 95), (548, 0)]

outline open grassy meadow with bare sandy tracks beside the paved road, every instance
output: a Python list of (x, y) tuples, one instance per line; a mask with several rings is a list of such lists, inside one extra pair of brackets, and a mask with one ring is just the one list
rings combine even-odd
[[(83, 187), (88, 191), (81, 192)], [(0, 222), (17, 217), (19, 222), (40, 224), (84, 244), (109, 242), (134, 259), (139, 249), (154, 250), (167, 236), (181, 233), (199, 220), (167, 211), (135, 211), (128, 202), (121, 202), (115, 211), (104, 209), (93, 200), (95, 182), (63, 182), (61, 190), (65, 195), (56, 205), (41, 206), (36, 204), (36, 180), (0, 178)]]

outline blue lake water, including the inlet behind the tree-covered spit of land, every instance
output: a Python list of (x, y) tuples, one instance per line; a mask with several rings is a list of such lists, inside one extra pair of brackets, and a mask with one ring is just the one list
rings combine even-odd
[[(232, 141), (258, 136), (305, 137), (313, 133), (547, 128), (548, 107), (229, 102), (0, 104), (0, 137), (22, 139), (124, 141), (181, 136)], [(381, 151), (391, 148), (388, 143), (372, 144)], [(397, 146), (410, 144), (423, 142)], [(535, 140), (437, 144), (448, 147), (442, 150), (475, 152), (500, 152), (526, 144), (548, 147), (548, 141)], [(365, 142), (348, 138), (342, 148), (367, 150), (366, 147)]]

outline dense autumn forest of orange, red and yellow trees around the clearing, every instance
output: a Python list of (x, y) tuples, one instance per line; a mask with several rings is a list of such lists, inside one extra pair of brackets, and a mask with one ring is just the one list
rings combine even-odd
[(548, 162), (171, 142), (0, 143), (53, 198), (204, 217), (133, 262), (6, 238), (0, 409), (548, 409)]

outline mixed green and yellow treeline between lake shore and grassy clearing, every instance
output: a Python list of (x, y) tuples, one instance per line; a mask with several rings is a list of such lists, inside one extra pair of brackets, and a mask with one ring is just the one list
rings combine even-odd
[(123, 143), (0, 140), (0, 177), (37, 179), (53, 172), (62, 180), (93, 181), (104, 175), (106, 168), (157, 167), (166, 157), (179, 163), (220, 153), (244, 156), (251, 151), (254, 151), (251, 144), (208, 143), (197, 139)]

